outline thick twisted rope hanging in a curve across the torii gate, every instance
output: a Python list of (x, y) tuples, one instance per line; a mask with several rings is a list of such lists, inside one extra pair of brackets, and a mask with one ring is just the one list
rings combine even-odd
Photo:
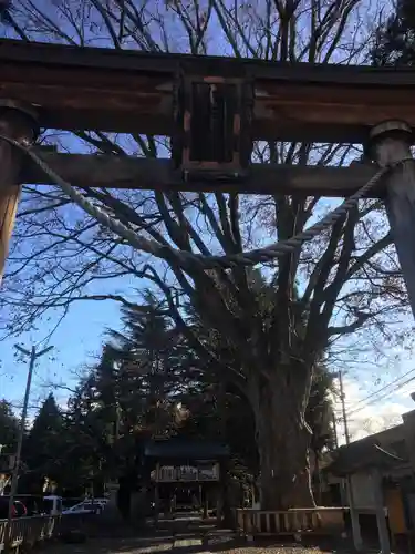
[(155, 240), (148, 239), (138, 235), (135, 230), (126, 227), (121, 222), (112, 218), (100, 207), (92, 204), (83, 194), (74, 189), (74, 187), (64, 181), (55, 173), (40, 156), (33, 151), (33, 146), (25, 146), (4, 135), (0, 135), (0, 140), (8, 142), (20, 151), (24, 152), (31, 160), (48, 175), (68, 196), (91, 217), (94, 217), (101, 225), (112, 230), (114, 234), (124, 238), (131, 246), (147, 254), (152, 254), (158, 258), (173, 259), (181, 265), (197, 263), (204, 268), (215, 267), (235, 267), (237, 265), (256, 265), (259, 263), (270, 261), (273, 258), (290, 254), (302, 246), (303, 243), (311, 240), (320, 233), (331, 227), (340, 218), (344, 217), (351, 209), (357, 206), (359, 201), (367, 195), (367, 193), (378, 184), (378, 182), (394, 167), (412, 161), (412, 158), (402, 160), (386, 167), (381, 168), (364, 186), (362, 186), (350, 198), (345, 199), (340, 206), (324, 216), (320, 222), (312, 225), (309, 229), (287, 239), (276, 243), (263, 248), (258, 248), (248, 253), (227, 255), (227, 256), (203, 256), (186, 250), (176, 250), (170, 246), (162, 246)]

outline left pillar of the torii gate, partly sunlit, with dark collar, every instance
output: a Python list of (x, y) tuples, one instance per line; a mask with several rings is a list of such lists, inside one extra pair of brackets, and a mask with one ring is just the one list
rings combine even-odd
[[(35, 111), (21, 102), (0, 100), (0, 135), (32, 144), (39, 134)], [(19, 175), (24, 153), (0, 138), (0, 285), (9, 253), (21, 186)]]

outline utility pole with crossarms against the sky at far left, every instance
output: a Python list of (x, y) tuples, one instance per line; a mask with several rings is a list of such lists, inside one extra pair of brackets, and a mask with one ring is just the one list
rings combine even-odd
[(20, 460), (21, 460), (21, 453), (22, 453), (22, 444), (23, 444), (23, 437), (24, 437), (24, 429), (25, 429), (25, 420), (28, 417), (28, 407), (29, 407), (29, 397), (30, 397), (30, 388), (32, 384), (32, 377), (33, 377), (33, 370), (34, 370), (34, 365), (38, 358), (41, 356), (44, 356), (46, 352), (52, 350), (52, 346), (44, 348), (40, 352), (37, 352), (35, 347), (32, 347), (32, 349), (25, 350), (25, 348), (20, 347), (19, 345), (14, 345), (14, 348), (19, 350), (21, 353), (24, 356), (29, 356), (29, 370), (28, 370), (28, 379), (25, 382), (25, 391), (24, 391), (24, 400), (23, 400), (23, 408), (22, 408), (22, 414), (20, 418), (20, 425), (19, 425), (19, 437), (18, 437), (18, 445), (15, 449), (15, 458), (14, 458), (14, 465), (13, 465), (13, 472), (11, 476), (11, 486), (10, 486), (10, 496), (9, 496), (9, 510), (8, 510), (8, 522), (6, 526), (6, 552), (10, 550), (10, 542), (11, 542), (11, 521), (13, 516), (13, 504), (14, 504), (14, 496), (18, 491), (18, 479), (19, 479), (19, 468), (20, 468)]

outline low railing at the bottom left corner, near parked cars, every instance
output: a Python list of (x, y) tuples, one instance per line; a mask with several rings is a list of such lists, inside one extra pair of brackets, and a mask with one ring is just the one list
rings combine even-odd
[[(85, 515), (34, 515), (12, 520), (10, 531), (10, 546), (18, 548), (34, 546), (37, 543), (59, 537), (71, 530), (83, 527)], [(7, 543), (7, 520), (0, 520), (0, 552)]]

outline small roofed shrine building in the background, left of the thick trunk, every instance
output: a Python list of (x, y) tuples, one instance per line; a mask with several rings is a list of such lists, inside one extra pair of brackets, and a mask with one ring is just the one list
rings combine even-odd
[(215, 499), (220, 519), (228, 458), (228, 447), (218, 443), (183, 439), (149, 442), (144, 449), (144, 463), (152, 471), (156, 512), (174, 511), (180, 492), (186, 490), (196, 496), (205, 516), (209, 501)]

